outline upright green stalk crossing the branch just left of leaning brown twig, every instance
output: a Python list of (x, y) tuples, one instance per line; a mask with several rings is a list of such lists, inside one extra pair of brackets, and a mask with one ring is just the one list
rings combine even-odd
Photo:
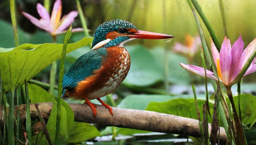
[(26, 80), (25, 80), (25, 93), (26, 93), (26, 134), (27, 134), (28, 142), (32, 142), (29, 88)]

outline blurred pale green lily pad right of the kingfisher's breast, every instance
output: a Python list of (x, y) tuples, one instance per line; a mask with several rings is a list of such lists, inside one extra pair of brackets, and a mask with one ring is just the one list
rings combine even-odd
[[(159, 81), (164, 81), (164, 55), (165, 51), (161, 47), (147, 50), (143, 45), (133, 45), (126, 47), (131, 56), (131, 68), (123, 84), (135, 86), (150, 86)], [(178, 63), (184, 62), (183, 56), (168, 52), (169, 58), (169, 81), (176, 84), (188, 84), (188, 75), (180, 76), (181, 67)], [(183, 72), (186, 72), (182, 70)]]

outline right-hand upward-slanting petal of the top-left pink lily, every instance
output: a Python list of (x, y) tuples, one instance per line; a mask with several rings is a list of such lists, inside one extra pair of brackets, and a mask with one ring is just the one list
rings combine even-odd
[(65, 29), (68, 28), (68, 26), (74, 22), (75, 17), (78, 15), (77, 11), (71, 11), (69, 14), (65, 15), (64, 17), (62, 17), (60, 24), (56, 30), (56, 33), (60, 32), (60, 31), (64, 31)]

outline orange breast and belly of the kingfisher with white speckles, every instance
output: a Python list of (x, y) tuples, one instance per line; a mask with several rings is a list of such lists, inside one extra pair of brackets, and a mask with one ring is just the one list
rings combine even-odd
[[(107, 56), (102, 56), (102, 67), (78, 83), (74, 89), (73, 98), (83, 100), (87, 97), (92, 100), (103, 97), (113, 92), (125, 79), (131, 65), (127, 50), (124, 47), (106, 49)], [(102, 91), (99, 91), (101, 89)]]

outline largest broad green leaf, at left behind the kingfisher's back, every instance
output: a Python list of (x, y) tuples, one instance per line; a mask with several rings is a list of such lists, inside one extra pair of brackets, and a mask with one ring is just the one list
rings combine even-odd
[[(67, 53), (83, 47), (92, 41), (91, 38), (81, 39), (79, 42), (67, 45)], [(62, 53), (62, 44), (24, 44), (8, 52), (0, 52), (0, 70), (5, 90), (11, 85), (24, 84), (27, 81), (59, 59)]]

